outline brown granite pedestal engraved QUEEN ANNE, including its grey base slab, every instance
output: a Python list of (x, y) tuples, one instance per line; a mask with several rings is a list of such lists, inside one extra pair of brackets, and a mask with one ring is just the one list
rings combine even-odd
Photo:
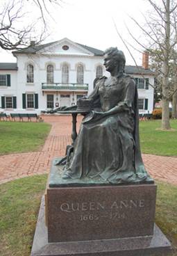
[[(66, 184), (51, 168), (31, 256), (167, 255), (171, 245), (154, 224), (155, 184)], [(55, 182), (57, 180), (58, 182)], [(44, 211), (46, 223), (44, 223)], [(47, 224), (47, 225), (46, 225)]]

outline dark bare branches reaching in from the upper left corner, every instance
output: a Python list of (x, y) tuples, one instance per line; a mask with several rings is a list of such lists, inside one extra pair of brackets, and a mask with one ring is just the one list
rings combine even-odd
[[(6, 50), (22, 49), (36, 44), (47, 36), (48, 6), (60, 5), (62, 0), (9, 0), (4, 1), (0, 13), (0, 47)], [(36, 15), (28, 12), (33, 6)], [(32, 16), (33, 15), (33, 16)]]

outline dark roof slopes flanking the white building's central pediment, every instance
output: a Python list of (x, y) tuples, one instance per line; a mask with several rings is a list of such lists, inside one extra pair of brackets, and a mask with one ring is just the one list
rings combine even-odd
[[(59, 42), (59, 41), (56, 41), (56, 42)], [(12, 53), (13, 54), (35, 54), (37, 51), (40, 51), (41, 49), (43, 49), (45, 47), (51, 46), (51, 45), (55, 44), (56, 42), (49, 42), (48, 44), (45, 44), (45, 45), (30, 45), (27, 48), (20, 49), (17, 51), (12, 51)], [(95, 48), (89, 47), (87, 45), (81, 45), (81, 44), (78, 44), (77, 42), (76, 42), (76, 44), (87, 49), (88, 51), (91, 51), (94, 54), (94, 56), (103, 56), (103, 51), (101, 51), (99, 49), (95, 49)]]

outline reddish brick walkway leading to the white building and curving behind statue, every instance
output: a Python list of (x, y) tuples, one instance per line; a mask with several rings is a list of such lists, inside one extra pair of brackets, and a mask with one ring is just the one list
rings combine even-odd
[[(0, 184), (19, 177), (49, 173), (51, 160), (65, 154), (66, 145), (71, 143), (71, 116), (44, 115), (43, 118), (52, 127), (42, 151), (0, 156)], [(80, 123), (81, 116), (78, 116), (78, 127)], [(177, 157), (143, 154), (143, 159), (153, 178), (177, 185)]]

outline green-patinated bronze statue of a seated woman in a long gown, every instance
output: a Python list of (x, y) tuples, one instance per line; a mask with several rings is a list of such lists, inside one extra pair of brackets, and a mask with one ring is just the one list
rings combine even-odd
[(117, 47), (104, 53), (110, 77), (101, 77), (87, 99), (93, 111), (85, 115), (74, 152), (62, 178), (103, 179), (113, 184), (144, 182), (148, 175), (142, 162), (135, 81), (124, 73), (126, 59)]

